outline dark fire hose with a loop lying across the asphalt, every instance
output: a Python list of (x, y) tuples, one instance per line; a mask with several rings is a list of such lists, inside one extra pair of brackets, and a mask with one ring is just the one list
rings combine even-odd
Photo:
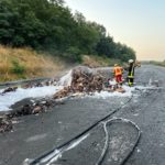
[[(96, 165), (100, 165), (102, 162), (103, 162), (103, 158), (106, 156), (106, 153), (108, 151), (108, 141), (109, 141), (109, 135), (108, 135), (108, 131), (107, 131), (107, 123), (110, 123), (110, 122), (114, 122), (114, 120), (120, 120), (122, 122), (125, 122), (124, 119), (111, 119), (109, 121), (106, 121), (108, 118), (110, 118), (112, 114), (114, 114), (116, 112), (118, 112), (119, 110), (121, 110), (124, 106), (127, 106), (129, 102), (131, 102), (131, 100), (133, 99), (133, 95), (131, 96), (131, 98), (124, 103), (122, 105), (120, 108), (113, 110), (112, 112), (110, 112), (109, 114), (107, 114), (106, 117), (103, 117), (102, 119), (100, 119), (99, 121), (95, 122), (91, 127), (89, 127), (88, 129), (86, 129), (85, 131), (82, 131), (81, 133), (79, 133), (78, 135), (76, 135), (75, 138), (70, 139), (69, 141), (65, 142), (64, 144), (57, 146), (57, 147), (54, 147), (53, 150), (51, 150), (50, 152), (41, 155), (40, 157), (33, 160), (32, 162), (29, 163), (29, 165), (40, 165), (41, 161), (44, 160), (45, 157), (50, 157), (50, 160), (52, 160), (52, 156), (50, 155), (54, 155), (55, 156), (55, 152), (56, 151), (63, 151), (63, 147), (66, 147), (68, 146), (69, 144), (73, 143), (73, 141), (76, 141), (76, 140), (79, 140), (82, 135), (87, 134), (91, 129), (94, 129), (95, 127), (97, 127), (99, 123), (102, 123), (103, 122), (103, 129), (105, 129), (105, 134), (106, 134), (106, 142), (105, 142), (105, 147), (102, 150), (102, 153), (98, 160), (98, 162), (96, 163)], [(123, 162), (120, 164), (120, 165), (123, 165), (123, 163), (129, 158), (129, 156), (131, 155), (131, 153), (134, 151), (139, 140), (140, 140), (140, 129), (138, 128), (138, 125), (135, 125), (133, 122), (131, 121), (128, 121), (130, 124), (134, 125), (135, 129), (138, 130), (139, 134), (138, 134), (138, 138), (136, 138), (136, 141), (134, 143), (134, 147), (132, 148), (132, 151), (129, 153), (129, 155), (123, 160)], [(48, 161), (50, 161), (48, 160)]]

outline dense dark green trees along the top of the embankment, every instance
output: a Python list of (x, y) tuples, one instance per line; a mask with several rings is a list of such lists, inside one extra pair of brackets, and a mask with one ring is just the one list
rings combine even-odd
[(80, 54), (127, 62), (135, 52), (116, 43), (106, 28), (72, 13), (63, 0), (0, 0), (0, 44), (30, 46), (73, 62)]

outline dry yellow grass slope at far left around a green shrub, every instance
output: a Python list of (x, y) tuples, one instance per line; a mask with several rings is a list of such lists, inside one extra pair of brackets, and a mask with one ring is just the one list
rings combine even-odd
[[(12, 72), (13, 62), (24, 68), (23, 74)], [(11, 48), (0, 45), (0, 81), (50, 77), (63, 70), (64, 66), (59, 58), (38, 54), (31, 48)]]

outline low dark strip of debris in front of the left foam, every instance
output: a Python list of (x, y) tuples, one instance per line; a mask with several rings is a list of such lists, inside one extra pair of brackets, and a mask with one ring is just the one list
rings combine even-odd
[[(26, 103), (24, 105), (24, 102)], [(16, 102), (16, 108), (14, 110), (0, 114), (0, 133), (12, 131), (13, 124), (18, 123), (15, 120), (18, 117), (29, 114), (37, 116), (41, 112), (46, 112), (50, 107), (57, 105), (64, 105), (64, 101), (50, 98), (36, 101), (24, 99), (24, 101)]]

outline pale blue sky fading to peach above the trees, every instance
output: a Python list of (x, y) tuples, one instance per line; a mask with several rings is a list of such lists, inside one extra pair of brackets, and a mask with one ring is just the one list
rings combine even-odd
[(165, 0), (65, 0), (73, 13), (102, 24), (140, 61), (165, 59)]

